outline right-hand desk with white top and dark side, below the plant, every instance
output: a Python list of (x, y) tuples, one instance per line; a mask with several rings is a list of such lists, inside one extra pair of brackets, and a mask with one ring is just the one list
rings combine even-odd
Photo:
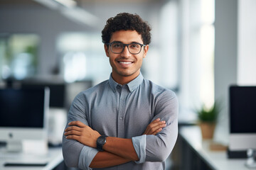
[(228, 159), (226, 151), (211, 151), (198, 126), (181, 127), (181, 169), (248, 170), (246, 159)]

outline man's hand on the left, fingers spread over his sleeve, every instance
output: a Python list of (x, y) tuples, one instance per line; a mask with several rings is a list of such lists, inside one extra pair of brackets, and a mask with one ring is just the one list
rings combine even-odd
[(65, 129), (65, 137), (68, 140), (77, 140), (83, 145), (88, 147), (97, 147), (96, 141), (100, 137), (100, 133), (92, 130), (89, 126), (81, 123), (80, 121), (73, 121), (68, 123), (70, 127)]

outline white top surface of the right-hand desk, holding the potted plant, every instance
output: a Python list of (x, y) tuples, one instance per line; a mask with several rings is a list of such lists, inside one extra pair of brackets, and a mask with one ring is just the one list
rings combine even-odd
[(228, 159), (226, 151), (211, 151), (211, 141), (202, 140), (201, 130), (198, 126), (183, 127), (179, 134), (213, 169), (248, 170), (245, 166), (246, 159)]

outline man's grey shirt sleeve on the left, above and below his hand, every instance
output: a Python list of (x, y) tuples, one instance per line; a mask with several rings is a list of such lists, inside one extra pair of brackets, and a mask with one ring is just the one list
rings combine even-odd
[[(68, 113), (68, 123), (79, 120), (88, 125), (85, 118), (85, 105), (83, 104), (82, 95), (78, 95)], [(66, 125), (68, 128), (68, 124)], [(90, 163), (97, 154), (97, 149), (82, 145), (76, 140), (67, 140), (63, 135), (63, 158), (64, 162), (69, 167), (79, 169), (90, 169)]]

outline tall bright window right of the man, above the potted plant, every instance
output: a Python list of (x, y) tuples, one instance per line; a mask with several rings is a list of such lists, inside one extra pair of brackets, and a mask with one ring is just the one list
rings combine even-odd
[(183, 0), (181, 8), (181, 94), (191, 109), (214, 102), (215, 1)]

